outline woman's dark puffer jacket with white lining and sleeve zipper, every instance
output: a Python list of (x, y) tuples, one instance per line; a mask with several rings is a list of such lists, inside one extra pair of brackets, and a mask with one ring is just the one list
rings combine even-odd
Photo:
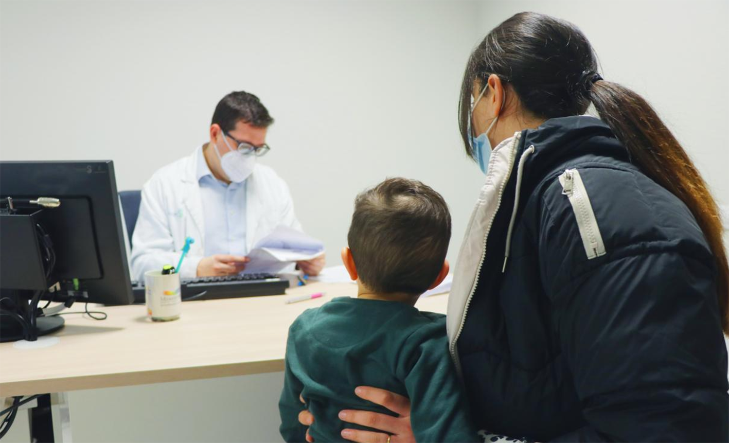
[(477, 424), (540, 442), (729, 442), (716, 271), (686, 206), (593, 117), (518, 133), (491, 162), (448, 311)]

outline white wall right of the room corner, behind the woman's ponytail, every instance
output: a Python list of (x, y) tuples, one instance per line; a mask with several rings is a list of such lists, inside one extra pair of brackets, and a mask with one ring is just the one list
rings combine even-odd
[(593, 44), (603, 77), (643, 95), (729, 204), (729, 1), (479, 1), (483, 38), (517, 12), (569, 20)]

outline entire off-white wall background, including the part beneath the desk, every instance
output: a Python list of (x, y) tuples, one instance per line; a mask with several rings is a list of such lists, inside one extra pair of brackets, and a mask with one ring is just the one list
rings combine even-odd
[[(263, 162), (330, 264), (356, 192), (397, 175), (443, 193), (454, 259), (483, 181), (456, 132), (461, 73), (488, 30), (522, 10), (580, 26), (604, 77), (654, 104), (729, 203), (725, 0), (5, 0), (1, 158), (108, 158), (119, 189), (139, 188), (206, 141), (223, 95), (249, 90), (276, 117)], [(280, 387), (270, 374), (71, 393), (74, 441), (276, 441)]]

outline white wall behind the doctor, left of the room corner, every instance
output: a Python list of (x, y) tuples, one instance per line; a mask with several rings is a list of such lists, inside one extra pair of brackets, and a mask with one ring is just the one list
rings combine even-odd
[(330, 264), (354, 196), (421, 179), (453, 213), (453, 260), (480, 171), (456, 129), (475, 0), (0, 3), (2, 160), (112, 159), (141, 187), (206, 141), (232, 90), (276, 123), (263, 160), (286, 179)]

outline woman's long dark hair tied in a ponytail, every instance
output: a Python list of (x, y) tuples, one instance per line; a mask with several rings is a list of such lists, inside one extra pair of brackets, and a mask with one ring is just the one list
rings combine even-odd
[[(475, 81), (496, 74), (518, 96), (521, 110), (550, 119), (584, 114), (592, 103), (625, 146), (631, 161), (687, 205), (714, 254), (722, 327), (729, 334), (729, 267), (714, 197), (690, 157), (655, 110), (627, 87), (600, 77), (595, 52), (577, 26), (534, 12), (516, 14), (488, 33), (472, 52), (461, 84), (459, 127), (466, 152)], [(507, 98), (507, 101), (509, 99)]]

